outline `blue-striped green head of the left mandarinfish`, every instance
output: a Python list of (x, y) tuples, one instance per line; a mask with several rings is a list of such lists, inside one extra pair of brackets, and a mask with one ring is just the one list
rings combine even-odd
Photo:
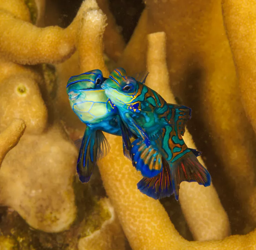
[[(88, 95), (90, 90), (100, 90), (104, 81), (102, 71), (99, 69), (91, 70), (77, 76), (69, 78), (66, 90), (69, 96), (71, 107), (79, 105)], [(89, 91), (89, 92), (88, 92)]]

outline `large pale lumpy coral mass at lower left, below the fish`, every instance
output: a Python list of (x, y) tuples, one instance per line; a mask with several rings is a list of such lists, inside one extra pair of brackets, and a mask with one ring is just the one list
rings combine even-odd
[(25, 135), (2, 163), (1, 204), (13, 207), (33, 228), (67, 229), (76, 216), (72, 188), (76, 156), (57, 125), (40, 136)]

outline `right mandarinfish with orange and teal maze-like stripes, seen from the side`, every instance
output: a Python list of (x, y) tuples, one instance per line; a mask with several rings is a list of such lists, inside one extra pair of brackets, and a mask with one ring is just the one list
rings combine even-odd
[[(166, 196), (174, 192), (176, 200), (182, 181), (211, 184), (209, 172), (196, 158), (201, 152), (188, 148), (182, 138), (191, 109), (168, 104), (154, 90), (126, 76), (123, 68), (113, 70), (101, 87), (118, 108), (125, 126), (138, 136), (131, 144), (131, 153), (137, 170), (145, 177), (138, 183), (142, 193), (157, 198), (156, 182), (147, 178), (156, 178), (159, 174), (166, 174), (165, 180), (158, 178), (159, 186), (168, 188)], [(169, 183), (173, 190), (168, 187)]]

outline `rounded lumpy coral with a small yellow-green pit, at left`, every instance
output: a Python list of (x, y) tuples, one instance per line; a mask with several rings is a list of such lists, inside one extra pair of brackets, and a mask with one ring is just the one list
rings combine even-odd
[(0, 130), (14, 118), (26, 122), (28, 133), (41, 133), (47, 124), (47, 109), (38, 83), (30, 75), (15, 74), (0, 84)]

